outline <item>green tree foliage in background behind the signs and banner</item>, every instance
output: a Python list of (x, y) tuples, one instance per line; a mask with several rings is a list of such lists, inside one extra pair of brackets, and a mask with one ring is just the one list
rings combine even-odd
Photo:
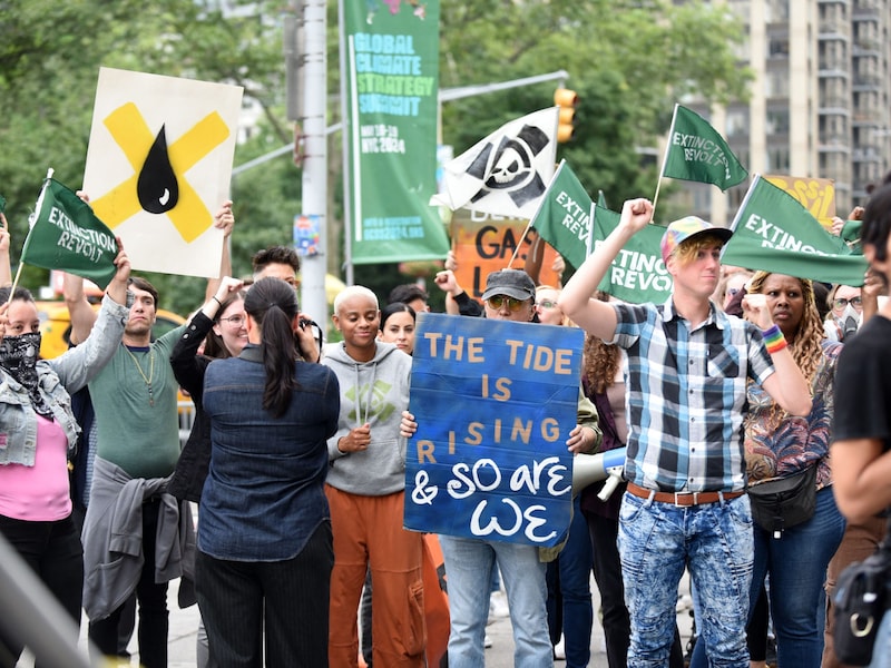
[[(224, 16), (223, 4), (227, 12)], [(284, 114), (282, 12), (292, 2), (248, 0), (0, 0), (0, 193), (17, 261), (47, 168), (80, 186), (99, 67), (243, 86), (260, 109), (252, 137), (236, 148), (241, 165), (292, 140)], [(579, 92), (576, 138), (566, 157), (593, 194), (603, 189), (619, 208), (629, 196), (653, 196), (657, 160), (636, 147), (656, 147), (673, 104), (696, 95), (713, 102), (744, 98), (745, 68), (734, 56), (742, 27), (721, 3), (694, 0), (441, 0), (443, 88), (506, 81), (565, 69)], [(337, 2), (329, 0), (329, 118), (340, 117)], [(443, 105), (443, 139), (456, 155), (503, 122), (552, 104), (542, 84)], [(329, 144), (330, 267), (341, 265), (341, 139)], [(288, 243), (301, 212), (301, 175), (287, 156), (233, 180), (236, 275), (251, 255)], [(662, 196), (660, 196), (662, 199)], [(151, 275), (163, 305), (186, 313), (203, 281)], [(389, 286), (411, 278), (395, 265), (356, 267), (356, 279)], [(46, 284), (28, 267), (22, 284)], [(380, 285), (379, 285), (380, 284)], [(437, 294), (435, 288), (431, 289)]]

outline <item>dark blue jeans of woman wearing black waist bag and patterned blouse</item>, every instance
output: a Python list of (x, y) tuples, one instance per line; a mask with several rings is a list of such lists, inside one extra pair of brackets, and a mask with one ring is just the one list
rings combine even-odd
[[(835, 505), (832, 488), (816, 493), (814, 517), (773, 538), (755, 527), (755, 562), (751, 607), (770, 574), (770, 609), (781, 666), (820, 666), (823, 656), (825, 601), (823, 584), (830, 559), (844, 534), (844, 518)], [(704, 648), (694, 648), (691, 668), (706, 665)]]

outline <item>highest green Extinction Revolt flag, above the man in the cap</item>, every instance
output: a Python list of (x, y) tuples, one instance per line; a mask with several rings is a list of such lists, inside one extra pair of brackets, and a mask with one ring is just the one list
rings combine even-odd
[(744, 181), (748, 171), (707, 120), (675, 105), (662, 175), (713, 184), (726, 190)]

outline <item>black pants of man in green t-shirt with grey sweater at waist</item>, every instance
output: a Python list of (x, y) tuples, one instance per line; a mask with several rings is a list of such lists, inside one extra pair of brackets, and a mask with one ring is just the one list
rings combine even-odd
[[(155, 542), (158, 531), (160, 501), (153, 499), (143, 504), (143, 554), (145, 563), (136, 584), (139, 606), (139, 664), (145, 668), (167, 668), (167, 582), (155, 582)], [(90, 620), (90, 640), (102, 656), (117, 656), (121, 616), (126, 603), (105, 619)]]

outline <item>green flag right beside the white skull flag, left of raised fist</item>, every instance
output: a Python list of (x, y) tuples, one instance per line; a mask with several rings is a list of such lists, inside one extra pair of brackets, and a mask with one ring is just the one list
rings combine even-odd
[(578, 268), (590, 248), (591, 198), (575, 173), (561, 160), (530, 225)]

